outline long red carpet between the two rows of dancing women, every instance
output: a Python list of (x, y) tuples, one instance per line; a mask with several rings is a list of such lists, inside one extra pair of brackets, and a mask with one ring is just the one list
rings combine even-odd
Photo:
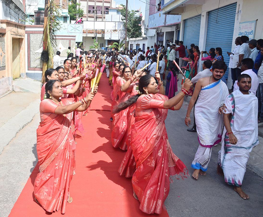
[[(111, 145), (110, 92), (112, 89), (103, 74), (92, 110), (82, 118), (84, 137), (76, 139), (76, 175), (70, 184), (73, 202), (67, 204), (63, 216), (168, 216), (148, 215), (139, 210), (133, 197), (131, 179), (119, 176), (119, 165), (124, 151)], [(34, 202), (33, 184), (38, 173), (34, 168), (9, 216), (62, 216), (59, 212), (45, 213)]]

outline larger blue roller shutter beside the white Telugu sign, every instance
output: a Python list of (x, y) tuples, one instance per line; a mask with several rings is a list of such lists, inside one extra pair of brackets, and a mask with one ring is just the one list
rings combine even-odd
[[(227, 51), (232, 50), (236, 16), (236, 3), (209, 12), (205, 50), (221, 47), (226, 65), (229, 64)], [(228, 67), (224, 77), (228, 77)]]

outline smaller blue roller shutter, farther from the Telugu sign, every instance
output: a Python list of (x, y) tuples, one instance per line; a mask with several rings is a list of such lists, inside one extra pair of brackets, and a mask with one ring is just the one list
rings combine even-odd
[(201, 15), (184, 21), (184, 36), (182, 41), (184, 42), (184, 46), (187, 45), (187, 49), (190, 49), (191, 44), (199, 45), (200, 25)]

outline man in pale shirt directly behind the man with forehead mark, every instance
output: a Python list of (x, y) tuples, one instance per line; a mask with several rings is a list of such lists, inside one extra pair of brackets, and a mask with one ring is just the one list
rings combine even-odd
[[(254, 61), (251, 58), (243, 59), (241, 64), (241, 71), (242, 71), (241, 75), (247, 74), (251, 77), (251, 88), (249, 91), (252, 92), (254, 95), (256, 95), (257, 88), (259, 86), (259, 79), (257, 78), (256, 73), (252, 71), (253, 66), (254, 66)], [(235, 81), (233, 91), (237, 89), (239, 89), (239, 86), (237, 86), (237, 81)]]

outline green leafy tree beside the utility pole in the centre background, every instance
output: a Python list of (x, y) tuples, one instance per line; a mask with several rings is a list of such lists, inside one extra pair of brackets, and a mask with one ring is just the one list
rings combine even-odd
[[(125, 22), (126, 22), (126, 6), (121, 4), (121, 6), (123, 7), (122, 9), (119, 9), (120, 14), (122, 15), (122, 21), (123, 21), (123, 25), (124, 28), (126, 28), (125, 26)], [(127, 15), (127, 37), (128, 38), (139, 38), (142, 36), (142, 32), (141, 32), (141, 20), (142, 17), (141, 16), (137, 16), (136, 13), (138, 13), (138, 11), (136, 10), (128, 10), (128, 15)]]

